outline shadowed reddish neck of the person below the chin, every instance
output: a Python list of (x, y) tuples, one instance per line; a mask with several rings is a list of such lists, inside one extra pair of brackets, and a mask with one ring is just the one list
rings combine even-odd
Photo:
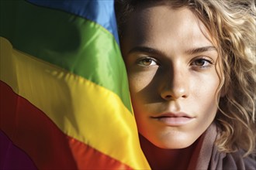
[(140, 135), (140, 145), (152, 169), (187, 169), (197, 141), (188, 148), (163, 149)]

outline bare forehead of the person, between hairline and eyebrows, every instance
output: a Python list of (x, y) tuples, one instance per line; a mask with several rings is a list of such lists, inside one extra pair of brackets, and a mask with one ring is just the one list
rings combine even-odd
[(170, 5), (141, 5), (130, 14), (123, 36), (134, 46), (163, 47), (183, 43), (193, 48), (213, 44), (206, 27), (189, 8), (171, 8)]

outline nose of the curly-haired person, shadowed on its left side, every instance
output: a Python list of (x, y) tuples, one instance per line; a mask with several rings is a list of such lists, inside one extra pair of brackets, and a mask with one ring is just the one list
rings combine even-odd
[(161, 80), (161, 97), (164, 100), (177, 100), (189, 96), (189, 77), (180, 69), (173, 69)]

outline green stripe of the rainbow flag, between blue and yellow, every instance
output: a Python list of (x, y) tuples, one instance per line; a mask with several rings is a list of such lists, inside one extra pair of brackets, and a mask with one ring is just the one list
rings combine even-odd
[(112, 90), (132, 110), (125, 65), (110, 32), (66, 12), (24, 1), (0, 3), (0, 36), (14, 48)]

